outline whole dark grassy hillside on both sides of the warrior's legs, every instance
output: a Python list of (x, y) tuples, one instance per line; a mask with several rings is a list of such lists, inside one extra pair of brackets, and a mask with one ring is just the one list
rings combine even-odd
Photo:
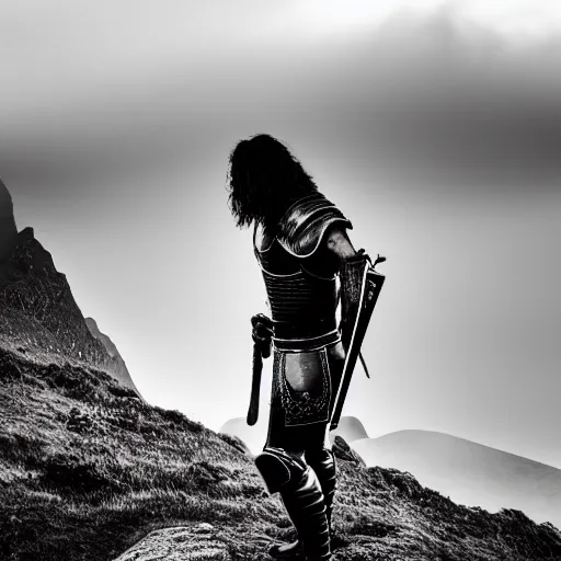
[[(193, 559), (263, 560), (291, 535), (239, 440), (146, 404), (102, 371), (0, 348), (0, 411), (2, 560), (108, 561), (169, 526), (194, 529), (188, 542), (206, 553)], [(365, 468), (342, 439), (336, 448), (335, 559), (561, 559), (550, 525), (458, 506), (407, 473)], [(195, 531), (202, 523), (211, 541)], [(176, 553), (184, 534), (145, 551), (171, 560), (157, 554)]]

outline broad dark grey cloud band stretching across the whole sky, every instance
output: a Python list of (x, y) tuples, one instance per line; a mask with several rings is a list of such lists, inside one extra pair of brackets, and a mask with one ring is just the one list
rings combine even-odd
[(93, 88), (65, 100), (59, 84), (56, 105), (3, 119), (0, 173), (75, 185), (133, 178), (181, 165), (197, 146), (211, 149), (213, 135), (228, 129), (234, 140), (254, 123), (283, 124), (387, 182), (559, 190), (561, 35), (525, 42), (439, 9), (396, 12), (344, 41), (228, 47), (196, 62), (179, 51), (162, 69), (134, 60), (111, 95)]

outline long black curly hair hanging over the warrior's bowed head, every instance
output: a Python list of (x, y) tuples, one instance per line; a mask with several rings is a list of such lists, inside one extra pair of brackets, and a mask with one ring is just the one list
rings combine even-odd
[(265, 134), (236, 145), (227, 182), (230, 209), (240, 228), (253, 221), (274, 228), (291, 203), (318, 191), (288, 148)]

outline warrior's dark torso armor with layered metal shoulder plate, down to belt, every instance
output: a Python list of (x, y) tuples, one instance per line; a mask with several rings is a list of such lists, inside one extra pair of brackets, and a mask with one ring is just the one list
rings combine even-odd
[(352, 228), (331, 202), (314, 193), (288, 208), (274, 236), (255, 228), (254, 252), (279, 348), (322, 346), (330, 334), (336, 335), (337, 265), (322, 244), (333, 225)]

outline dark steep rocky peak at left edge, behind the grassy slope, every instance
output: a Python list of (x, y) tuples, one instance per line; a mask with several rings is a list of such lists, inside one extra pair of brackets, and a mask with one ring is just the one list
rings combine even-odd
[(33, 228), (16, 232), (4, 185), (0, 199), (0, 346), (43, 363), (94, 366), (138, 393), (114, 345), (108, 351), (92, 335), (66, 276), (56, 270)]

